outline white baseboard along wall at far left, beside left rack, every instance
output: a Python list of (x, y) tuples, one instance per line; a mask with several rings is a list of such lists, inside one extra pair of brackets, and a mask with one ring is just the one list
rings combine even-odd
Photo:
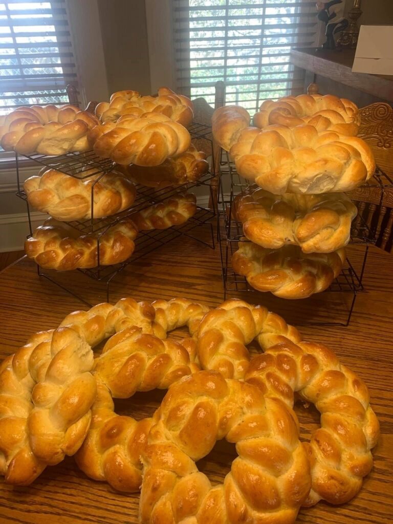
[[(37, 227), (48, 218), (46, 213), (30, 213), (32, 227)], [(23, 249), (29, 231), (27, 213), (0, 215), (0, 253)]]

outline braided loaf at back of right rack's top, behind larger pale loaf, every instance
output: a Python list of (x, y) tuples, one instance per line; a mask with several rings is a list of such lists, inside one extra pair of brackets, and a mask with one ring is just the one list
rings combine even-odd
[(347, 99), (334, 95), (285, 96), (276, 101), (265, 100), (254, 115), (254, 125), (264, 128), (269, 124), (295, 127), (314, 126), (318, 131), (335, 131), (341, 135), (356, 136), (360, 113)]

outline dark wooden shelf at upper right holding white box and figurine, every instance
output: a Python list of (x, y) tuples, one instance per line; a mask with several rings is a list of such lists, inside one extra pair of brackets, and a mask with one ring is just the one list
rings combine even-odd
[(332, 51), (320, 48), (298, 48), (291, 50), (290, 60), (306, 71), (377, 96), (387, 102), (393, 102), (393, 76), (353, 73), (354, 58), (354, 49)]

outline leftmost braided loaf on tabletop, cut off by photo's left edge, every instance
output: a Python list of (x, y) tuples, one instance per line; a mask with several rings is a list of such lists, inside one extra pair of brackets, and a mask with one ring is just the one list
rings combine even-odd
[(0, 367), (0, 473), (30, 484), (79, 448), (96, 395), (90, 345), (70, 328), (33, 335)]

